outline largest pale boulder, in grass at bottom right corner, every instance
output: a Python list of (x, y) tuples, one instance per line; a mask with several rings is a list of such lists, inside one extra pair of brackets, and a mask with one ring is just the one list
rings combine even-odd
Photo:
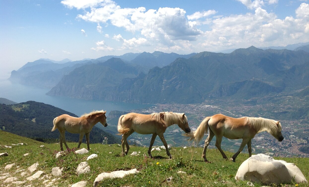
[(264, 154), (252, 155), (238, 168), (236, 180), (261, 182), (265, 185), (307, 182), (303, 173), (293, 163), (274, 160)]

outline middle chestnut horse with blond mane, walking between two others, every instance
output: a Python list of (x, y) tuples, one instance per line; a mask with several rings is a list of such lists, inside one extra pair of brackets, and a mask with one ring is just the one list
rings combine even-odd
[[(138, 114), (138, 113), (129, 113), (120, 116), (118, 120), (117, 130), (119, 135), (122, 134), (121, 144), (122, 144), (122, 156), (125, 156), (129, 152), (129, 144), (127, 138), (133, 132), (139, 134), (152, 134), (148, 155), (152, 158), (151, 148), (155, 142), (157, 135), (163, 142), (167, 156), (172, 158), (171, 153), (167, 148), (167, 143), (164, 139), (163, 133), (166, 128), (177, 124), (184, 132), (189, 133), (191, 131), (188, 125), (187, 116), (184, 113), (173, 113), (173, 112), (160, 112), (152, 114)], [(126, 146), (126, 151), (125, 151)]]

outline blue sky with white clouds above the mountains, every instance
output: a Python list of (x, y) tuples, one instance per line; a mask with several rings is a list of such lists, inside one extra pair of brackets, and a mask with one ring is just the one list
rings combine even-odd
[(40, 58), (190, 54), (308, 41), (308, 0), (0, 0), (0, 73), (6, 78)]

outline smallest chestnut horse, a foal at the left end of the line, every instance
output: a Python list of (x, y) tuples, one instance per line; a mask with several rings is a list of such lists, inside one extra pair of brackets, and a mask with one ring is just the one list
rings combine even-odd
[(102, 123), (104, 127), (107, 126), (106, 123), (106, 111), (104, 110), (95, 110), (87, 114), (83, 114), (80, 118), (72, 117), (68, 114), (62, 114), (53, 120), (54, 127), (52, 131), (56, 129), (60, 132), (60, 149), (63, 151), (62, 141), (68, 149), (68, 145), (66, 144), (66, 135), (65, 132), (68, 131), (70, 133), (79, 134), (79, 141), (77, 148), (80, 147), (80, 144), (83, 141), (84, 135), (86, 135), (87, 149), (90, 150), (89, 147), (89, 135), (92, 130), (92, 127), (97, 123)]

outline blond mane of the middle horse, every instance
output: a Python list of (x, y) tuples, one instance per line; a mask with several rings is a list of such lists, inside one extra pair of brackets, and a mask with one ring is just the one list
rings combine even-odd
[(186, 115), (184, 115), (184, 119), (182, 118), (184, 113), (160, 112), (160, 113), (152, 113), (150, 115), (151, 115), (151, 117), (154, 117), (157, 121), (160, 121), (160, 115), (161, 114), (164, 114), (164, 121), (167, 124), (167, 127), (169, 127), (173, 124), (188, 122)]

